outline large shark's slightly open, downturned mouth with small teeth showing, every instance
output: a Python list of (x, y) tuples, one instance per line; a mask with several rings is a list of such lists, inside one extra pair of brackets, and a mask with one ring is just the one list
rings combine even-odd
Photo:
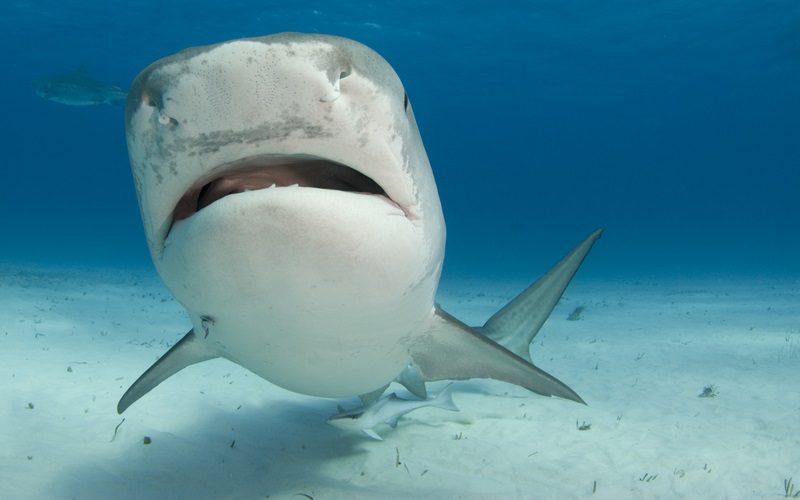
[(172, 224), (226, 196), (294, 185), (379, 195), (397, 205), (377, 182), (346, 165), (316, 157), (268, 156), (217, 168), (196, 182), (175, 206)]

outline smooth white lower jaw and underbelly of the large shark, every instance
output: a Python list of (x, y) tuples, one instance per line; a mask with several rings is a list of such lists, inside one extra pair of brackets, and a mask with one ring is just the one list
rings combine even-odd
[(423, 231), (380, 196), (272, 188), (173, 227), (159, 271), (220, 356), (286, 389), (346, 397), (409, 362), (433, 312)]

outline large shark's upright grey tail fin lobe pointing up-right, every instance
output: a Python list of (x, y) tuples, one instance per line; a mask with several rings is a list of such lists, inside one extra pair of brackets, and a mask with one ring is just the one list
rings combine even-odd
[(547, 274), (497, 311), (483, 328), (478, 330), (530, 361), (530, 344), (533, 338), (539, 333), (539, 329), (558, 304), (567, 285), (586, 258), (586, 254), (602, 233), (603, 230), (598, 229), (587, 236)]

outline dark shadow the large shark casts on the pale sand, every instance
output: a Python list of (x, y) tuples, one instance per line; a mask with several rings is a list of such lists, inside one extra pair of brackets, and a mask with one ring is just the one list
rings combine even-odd
[(336, 402), (316, 399), (213, 410), (187, 419), (179, 432), (154, 431), (129, 417), (106, 453), (76, 460), (49, 490), (80, 499), (375, 495), (350, 481), (362, 475), (368, 440), (328, 425), (335, 411)]

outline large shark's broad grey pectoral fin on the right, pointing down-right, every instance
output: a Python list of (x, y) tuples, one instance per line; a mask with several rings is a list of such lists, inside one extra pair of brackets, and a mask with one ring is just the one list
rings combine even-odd
[(575, 391), (500, 344), (488, 339), (438, 306), (431, 327), (409, 346), (425, 380), (491, 378), (543, 396), (586, 404)]

